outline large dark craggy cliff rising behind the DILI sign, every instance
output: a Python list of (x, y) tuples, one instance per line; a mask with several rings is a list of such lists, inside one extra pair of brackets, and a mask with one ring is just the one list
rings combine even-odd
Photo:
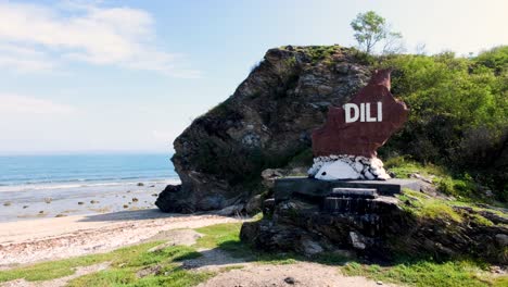
[(262, 171), (312, 159), (310, 134), (328, 108), (350, 100), (370, 75), (354, 49), (268, 50), (231, 97), (175, 140), (172, 160), (182, 184), (168, 186), (156, 204), (193, 212), (246, 203), (262, 192)]

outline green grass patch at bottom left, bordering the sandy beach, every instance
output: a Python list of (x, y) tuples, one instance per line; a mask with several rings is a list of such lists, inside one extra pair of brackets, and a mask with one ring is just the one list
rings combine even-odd
[[(192, 273), (177, 266), (178, 261), (200, 257), (201, 253), (195, 249), (175, 246), (155, 252), (148, 251), (160, 244), (148, 242), (103, 254), (43, 262), (2, 271), (0, 282), (17, 278), (30, 282), (49, 280), (72, 275), (78, 266), (105, 261), (111, 262), (110, 269), (78, 277), (72, 280), (69, 286), (193, 286), (212, 276), (211, 273)], [(154, 274), (139, 278), (137, 273), (147, 269), (153, 269)]]

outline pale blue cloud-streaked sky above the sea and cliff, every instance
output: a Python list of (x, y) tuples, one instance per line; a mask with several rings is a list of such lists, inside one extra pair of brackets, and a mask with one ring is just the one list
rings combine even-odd
[(172, 152), (266, 50), (354, 46), (370, 10), (408, 52), (508, 45), (506, 0), (0, 0), (0, 154)]

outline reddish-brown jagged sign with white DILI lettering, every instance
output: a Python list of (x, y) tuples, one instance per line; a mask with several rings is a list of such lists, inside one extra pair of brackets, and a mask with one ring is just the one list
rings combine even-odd
[(377, 155), (378, 148), (402, 127), (409, 113), (390, 92), (390, 73), (377, 71), (350, 102), (329, 109), (325, 125), (313, 133), (314, 157)]

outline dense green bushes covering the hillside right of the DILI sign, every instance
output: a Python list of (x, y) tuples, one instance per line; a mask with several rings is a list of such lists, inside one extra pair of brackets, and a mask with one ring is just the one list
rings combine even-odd
[(470, 197), (475, 182), (508, 201), (508, 46), (477, 58), (452, 52), (426, 57), (379, 57), (376, 67), (391, 67), (392, 92), (410, 108), (409, 121), (380, 149), (383, 158), (410, 154), (446, 166), (463, 183), (439, 183), (449, 194)]

